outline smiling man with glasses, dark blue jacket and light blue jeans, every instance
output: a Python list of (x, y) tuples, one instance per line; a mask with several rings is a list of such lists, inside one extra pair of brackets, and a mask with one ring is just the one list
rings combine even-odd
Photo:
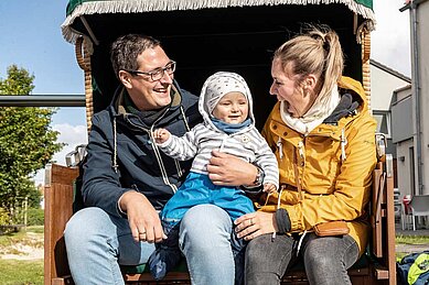
[[(85, 206), (64, 233), (76, 284), (124, 284), (119, 264), (146, 263), (164, 237), (159, 210), (187, 175), (152, 143), (154, 128), (183, 135), (201, 122), (197, 98), (173, 80), (175, 62), (160, 42), (137, 34), (119, 37), (111, 63), (121, 83), (106, 110), (96, 113), (84, 165)], [(210, 177), (219, 185), (251, 185), (257, 169), (214, 152)], [(189, 210), (180, 246), (193, 284), (233, 284), (232, 221), (213, 205)]]

